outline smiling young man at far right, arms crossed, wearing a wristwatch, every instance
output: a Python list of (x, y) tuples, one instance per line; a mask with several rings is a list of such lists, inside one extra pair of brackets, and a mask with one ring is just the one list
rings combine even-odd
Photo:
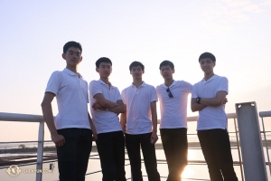
[(199, 58), (204, 78), (192, 87), (192, 111), (199, 111), (198, 137), (208, 165), (210, 180), (238, 181), (233, 168), (225, 113), (228, 79), (213, 72), (216, 58), (203, 52)]

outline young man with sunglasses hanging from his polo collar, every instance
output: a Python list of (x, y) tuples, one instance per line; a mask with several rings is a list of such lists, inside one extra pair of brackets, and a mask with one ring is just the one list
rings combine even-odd
[(192, 84), (173, 80), (173, 62), (161, 62), (159, 69), (164, 83), (157, 86), (156, 91), (161, 109), (160, 133), (169, 172), (167, 181), (180, 181), (187, 166), (187, 96), (192, 91)]

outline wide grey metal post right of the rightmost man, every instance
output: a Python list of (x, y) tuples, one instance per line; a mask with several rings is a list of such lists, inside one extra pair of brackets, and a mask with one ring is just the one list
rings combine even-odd
[(256, 102), (237, 103), (236, 112), (246, 181), (267, 181)]

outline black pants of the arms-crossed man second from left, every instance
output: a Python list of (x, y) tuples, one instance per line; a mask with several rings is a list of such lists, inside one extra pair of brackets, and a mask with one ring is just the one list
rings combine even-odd
[(100, 133), (96, 143), (103, 181), (125, 181), (125, 138), (123, 132)]

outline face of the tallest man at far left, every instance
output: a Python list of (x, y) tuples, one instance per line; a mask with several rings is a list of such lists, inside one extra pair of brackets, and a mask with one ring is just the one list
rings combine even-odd
[(62, 53), (62, 58), (66, 60), (68, 67), (76, 67), (82, 61), (79, 48), (70, 47), (67, 52)]

